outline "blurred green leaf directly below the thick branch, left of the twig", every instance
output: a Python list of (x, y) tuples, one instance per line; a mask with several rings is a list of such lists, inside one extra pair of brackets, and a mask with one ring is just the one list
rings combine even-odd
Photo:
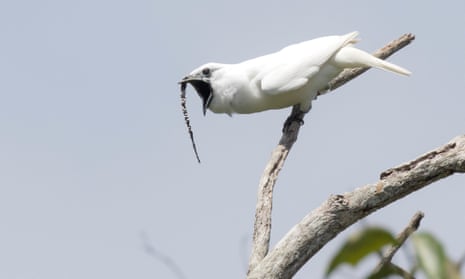
[(389, 231), (381, 227), (368, 227), (351, 235), (326, 268), (326, 276), (341, 264), (355, 266), (363, 258), (378, 252), (387, 244), (395, 243), (395, 238)]

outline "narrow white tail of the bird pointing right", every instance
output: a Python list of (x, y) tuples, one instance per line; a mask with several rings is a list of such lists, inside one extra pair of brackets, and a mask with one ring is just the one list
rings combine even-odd
[(411, 75), (411, 72), (407, 69), (376, 58), (363, 50), (351, 46), (342, 48), (334, 56), (333, 60), (343, 68), (374, 67), (405, 76)]

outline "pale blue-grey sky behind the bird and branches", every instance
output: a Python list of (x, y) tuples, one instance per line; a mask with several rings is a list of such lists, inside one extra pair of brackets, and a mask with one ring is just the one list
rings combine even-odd
[[(464, 10), (464, 1), (0, 2), (0, 278), (178, 278), (144, 239), (184, 278), (244, 278), (258, 181), (289, 109), (203, 117), (190, 89), (199, 165), (177, 82), (206, 62), (324, 35), (358, 30), (367, 51), (416, 35), (389, 59), (411, 77), (370, 70), (313, 103), (276, 185), (273, 246), (331, 194), (464, 133)], [(364, 223), (397, 233), (422, 210), (421, 229), (457, 259), (464, 184), (447, 178)], [(321, 278), (360, 227), (296, 278)]]

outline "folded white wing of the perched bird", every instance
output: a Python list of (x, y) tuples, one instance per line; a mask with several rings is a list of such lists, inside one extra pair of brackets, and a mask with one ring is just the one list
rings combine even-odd
[(357, 32), (328, 36), (288, 46), (269, 55), (258, 75), (264, 93), (277, 95), (306, 85), (339, 49), (355, 42)]

